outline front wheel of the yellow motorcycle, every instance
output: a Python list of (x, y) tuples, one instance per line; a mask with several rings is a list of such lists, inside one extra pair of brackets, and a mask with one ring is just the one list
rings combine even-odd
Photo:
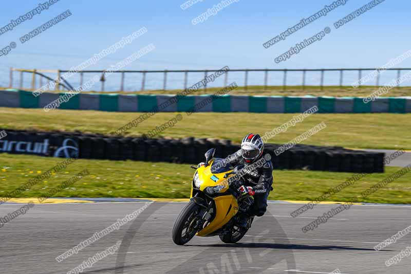
[(185, 205), (177, 217), (173, 227), (173, 241), (177, 245), (184, 245), (193, 239), (197, 233), (196, 223), (200, 206), (190, 201)]

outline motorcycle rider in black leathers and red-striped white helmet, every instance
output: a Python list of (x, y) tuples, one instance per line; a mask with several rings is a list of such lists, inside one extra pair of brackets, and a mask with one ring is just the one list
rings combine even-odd
[[(254, 197), (254, 205), (246, 213), (239, 214), (239, 226), (247, 227), (248, 216), (263, 216), (267, 210), (267, 198), (272, 190), (273, 165), (271, 157), (264, 157), (264, 141), (258, 134), (248, 134), (241, 141), (241, 149), (226, 159), (235, 167), (244, 164), (242, 185), (238, 188), (243, 195)], [(268, 156), (268, 155), (267, 155)], [(263, 165), (255, 165), (259, 161)], [(253, 165), (254, 163), (254, 165)], [(202, 165), (203, 163), (200, 163)]]

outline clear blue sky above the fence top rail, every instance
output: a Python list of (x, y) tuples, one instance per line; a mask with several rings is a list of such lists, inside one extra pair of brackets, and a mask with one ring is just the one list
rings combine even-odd
[[(41, 0), (42, 2), (46, 0)], [(103, 69), (153, 43), (156, 49), (127, 69), (220, 68), (338, 68), (376, 67), (411, 49), (409, 10), (411, 2), (386, 0), (339, 29), (333, 23), (369, 1), (349, 0), (285, 41), (266, 49), (262, 44), (333, 0), (269, 1), (240, 0), (201, 24), (192, 19), (218, 4), (203, 0), (182, 10), (184, 0), (60, 0), (32, 20), (0, 35), (0, 48), (17, 43), (0, 57), (0, 85), (7, 82), (8, 68), (69, 68), (114, 44), (141, 27), (148, 32), (131, 45), (90, 69)], [(0, 27), (38, 6), (39, 0), (2, 3)], [(70, 9), (72, 16), (21, 44), (18, 39)], [(289, 60), (274, 58), (325, 27), (322, 41), (310, 45)], [(411, 58), (399, 66), (411, 67)]]

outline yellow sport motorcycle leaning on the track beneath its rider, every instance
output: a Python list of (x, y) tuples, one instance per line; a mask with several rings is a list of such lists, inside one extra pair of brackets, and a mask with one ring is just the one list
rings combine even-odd
[(241, 195), (241, 180), (236, 176), (244, 165), (236, 166), (222, 158), (214, 158), (215, 149), (206, 153), (206, 162), (196, 169), (192, 181), (190, 202), (183, 208), (173, 227), (173, 241), (188, 243), (194, 235), (219, 236), (224, 243), (236, 243), (251, 227), (253, 217), (247, 217), (247, 227), (238, 225), (239, 214), (253, 205), (253, 197)]

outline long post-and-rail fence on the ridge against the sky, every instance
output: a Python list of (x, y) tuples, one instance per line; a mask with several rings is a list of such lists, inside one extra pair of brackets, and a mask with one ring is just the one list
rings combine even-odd
[[(375, 77), (375, 86), (380, 86), (380, 74), (381, 71), (384, 70), (389, 70), (389, 71), (396, 71), (397, 72), (397, 84), (400, 86), (399, 78), (401, 77), (402, 72), (404, 71), (411, 71), (411, 68), (317, 68), (317, 69), (229, 69), (227, 70), (227, 73), (225, 73), (224, 80), (223, 80), (223, 86), (227, 86), (228, 84), (228, 77), (229, 74), (232, 74), (233, 72), (241, 73), (244, 74), (244, 84), (241, 85), (240, 82), (238, 82), (239, 86), (244, 86), (244, 88), (247, 90), (249, 88), (249, 74), (250, 72), (258, 72), (262, 76), (264, 76), (264, 80), (259, 83), (258, 85), (263, 86), (263, 89), (266, 89), (269, 86), (269, 79), (275, 78), (275, 79), (282, 79), (282, 87), (283, 90), (287, 90), (287, 87), (290, 86), (295, 86), (296, 84), (290, 85), (290, 82), (288, 81), (288, 77), (291, 73), (293, 74), (300, 74), (301, 75), (301, 87), (303, 90), (305, 90), (306, 87), (308, 87), (307, 83), (307, 72), (316, 72), (320, 76), (320, 81), (317, 83), (318, 86), (320, 86), (320, 89), (323, 90), (326, 81), (326, 73), (327, 72), (338, 72), (339, 73), (339, 81), (330, 84), (331, 86), (340, 86), (343, 88), (344, 86), (344, 74), (345, 72), (357, 72), (358, 74), (358, 79), (356, 80), (356, 85), (361, 86), (365, 83), (363, 83), (363, 76), (365, 76), (365, 72), (369, 71), (376, 71), (376, 77)], [(54, 82), (55, 87), (57, 90), (61, 90), (61, 88), (65, 88), (67, 90), (70, 90), (70, 84), (66, 81), (66, 79), (62, 78), (62, 74), (65, 72), (69, 72), (70, 70), (50, 70), (50, 69), (22, 69), (22, 68), (10, 68), (10, 88), (27, 88), (25, 87), (25, 81), (24, 81), (24, 74), (29, 74), (31, 78), (31, 89), (35, 90), (36, 88), (40, 88), (43, 86), (43, 84), (49, 83), (49, 82)], [(161, 90), (167, 90), (167, 79), (169, 78), (170, 74), (182, 74), (183, 75), (183, 81), (181, 83), (181, 89), (185, 89), (189, 85), (189, 74), (203, 74), (204, 79), (207, 78), (207, 76), (212, 73), (216, 72), (218, 69), (187, 69), (187, 70), (119, 70), (115, 71), (115, 74), (120, 74), (121, 75), (121, 80), (120, 80), (120, 86), (119, 86), (119, 91), (124, 91), (125, 90), (125, 81), (126, 79), (136, 79), (136, 74), (141, 75), (141, 84), (139, 86), (134, 87), (134, 90), (145, 90), (146, 89), (146, 79), (149, 75), (162, 75), (162, 85), (157, 88)], [(20, 72), (18, 73), (18, 86), (14, 86), (14, 72)], [(53, 77), (46, 76), (45, 74), (53, 74)], [(101, 87), (100, 91), (104, 92), (105, 91), (105, 82), (106, 77), (105, 77), (106, 71), (104, 70), (82, 70), (82, 71), (77, 71), (76, 75), (79, 77), (79, 83), (80, 86), (83, 85), (84, 83), (84, 78), (86, 74), (100, 74), (100, 82), (101, 82)], [(278, 75), (280, 73), (280, 75)], [(275, 74), (275, 76), (273, 76)], [(351, 85), (351, 83), (349, 84)], [(373, 83), (367, 83), (367, 85), (373, 85)], [(281, 86), (281, 85), (280, 85)], [(208, 86), (207, 84), (204, 85), (204, 90), (207, 90)], [(115, 91), (115, 90), (111, 90)]]

